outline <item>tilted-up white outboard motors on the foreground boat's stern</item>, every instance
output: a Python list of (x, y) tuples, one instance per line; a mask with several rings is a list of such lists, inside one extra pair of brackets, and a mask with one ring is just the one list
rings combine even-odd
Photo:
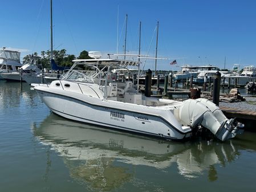
[(209, 129), (218, 139), (225, 141), (242, 133), (243, 124), (227, 119), (221, 109), (207, 99), (188, 99), (183, 102), (179, 111), (184, 125), (203, 126)]

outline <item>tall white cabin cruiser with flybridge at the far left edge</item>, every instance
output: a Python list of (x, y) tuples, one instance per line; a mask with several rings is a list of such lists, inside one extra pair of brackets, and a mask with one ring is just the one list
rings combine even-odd
[(6, 50), (5, 47), (0, 50), (0, 79), (2, 73), (17, 72), (18, 68), (22, 66), (21, 53), (18, 51)]

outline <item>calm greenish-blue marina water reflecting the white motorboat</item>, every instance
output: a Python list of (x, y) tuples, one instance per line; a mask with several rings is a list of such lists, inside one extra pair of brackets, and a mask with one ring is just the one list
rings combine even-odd
[(256, 133), (165, 142), (56, 116), (0, 81), (0, 191), (255, 191)]

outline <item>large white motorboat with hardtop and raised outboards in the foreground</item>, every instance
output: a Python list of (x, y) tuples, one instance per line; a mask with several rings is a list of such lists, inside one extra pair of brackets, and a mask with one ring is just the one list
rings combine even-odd
[(120, 81), (112, 72), (120, 67), (139, 66), (139, 62), (126, 61), (126, 66), (121, 66), (124, 61), (119, 59), (74, 62), (61, 80), (32, 84), (47, 107), (67, 119), (166, 140), (183, 140), (204, 128), (225, 141), (243, 127), (227, 119), (207, 99), (181, 102), (145, 97), (132, 81)]

